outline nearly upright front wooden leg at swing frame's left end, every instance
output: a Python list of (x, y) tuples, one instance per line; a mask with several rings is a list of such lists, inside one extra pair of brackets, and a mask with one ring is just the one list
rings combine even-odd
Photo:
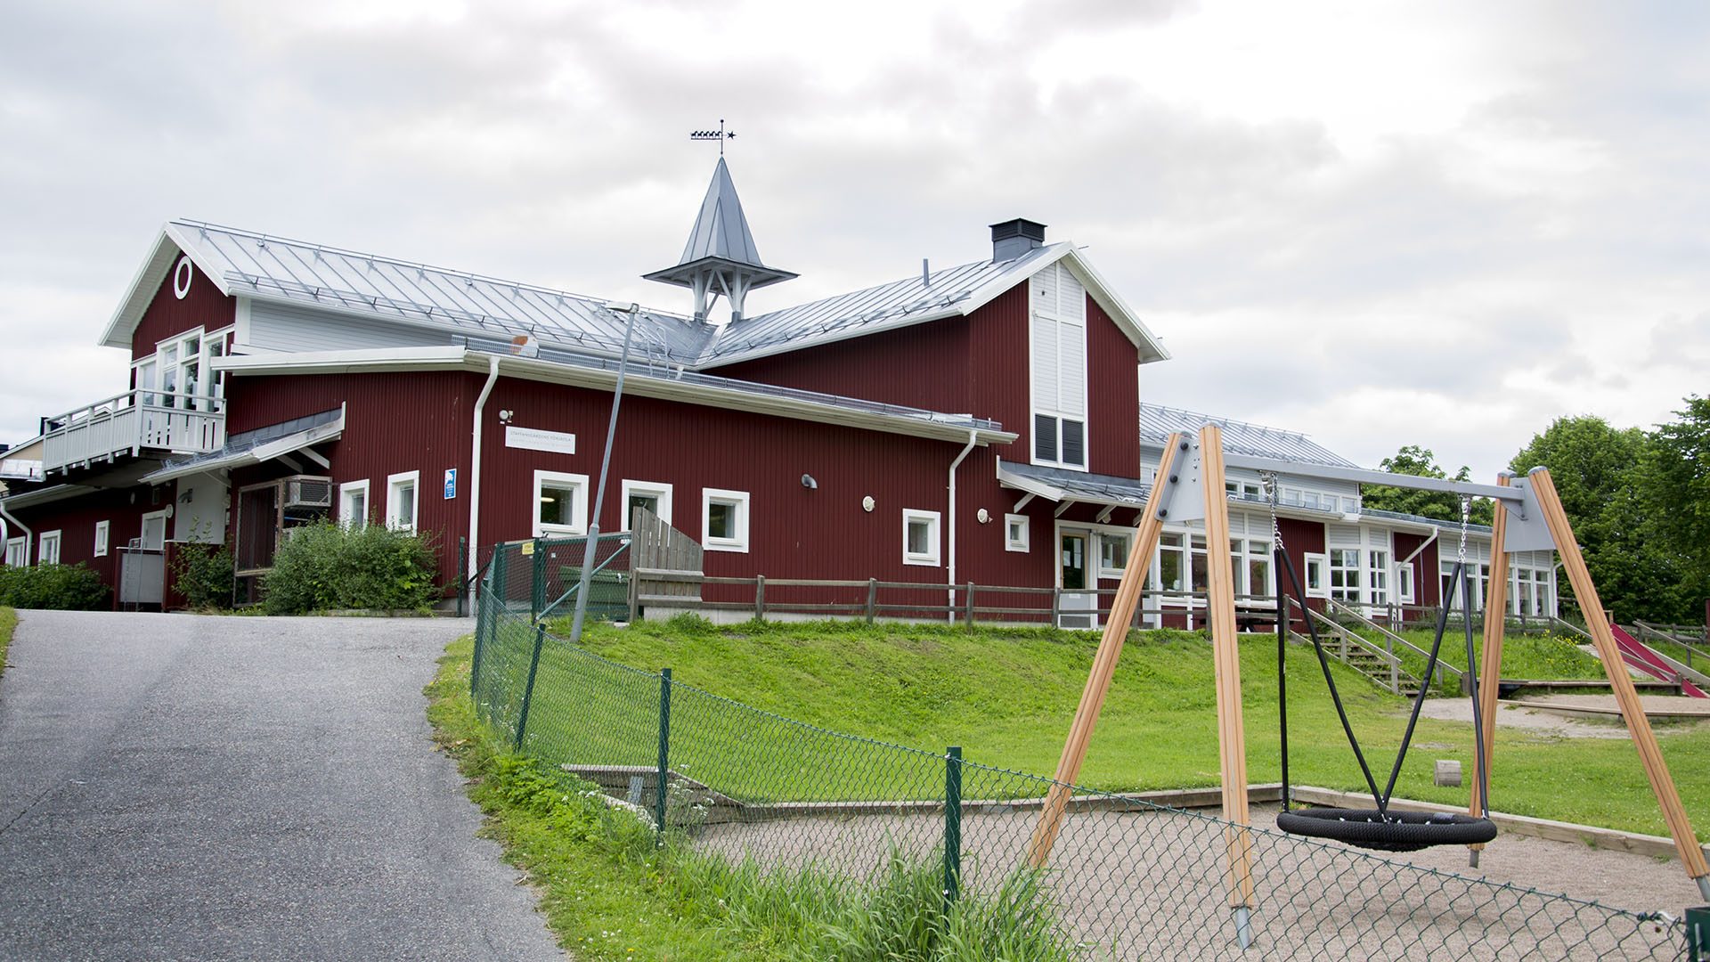
[[(1199, 431), (1199, 474), (1206, 486), (1206, 620), (1218, 680), (1218, 748), (1223, 758), (1223, 818), (1229, 856), (1229, 906), (1236, 929), (1253, 904), (1253, 839), (1247, 825), (1247, 731), (1241, 726), (1241, 649), (1235, 632), (1235, 570), (1229, 561), (1229, 502), (1223, 488), (1223, 428)], [(1243, 945), (1245, 948), (1245, 945)]]

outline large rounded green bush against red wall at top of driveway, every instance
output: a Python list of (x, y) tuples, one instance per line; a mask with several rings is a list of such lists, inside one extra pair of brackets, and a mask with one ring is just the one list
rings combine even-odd
[(268, 615), (344, 608), (414, 611), (438, 596), (428, 537), (371, 524), (359, 531), (323, 522), (289, 531), (262, 580)]

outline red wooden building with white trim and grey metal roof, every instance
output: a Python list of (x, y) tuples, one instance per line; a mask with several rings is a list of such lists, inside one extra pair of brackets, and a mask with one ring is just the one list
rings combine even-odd
[[(679, 264), (646, 276), (687, 288), (689, 310), (638, 308), (600, 529), (646, 505), (703, 544), (708, 575), (1055, 585), (1065, 609), (1096, 608), (1081, 592), (1122, 575), (1156, 445), (1204, 416), (1142, 409), (1142, 366), (1168, 353), (1074, 245), (1031, 221), (992, 226), (992, 245), (749, 315), (751, 289), (793, 274), (761, 260), (720, 159)], [(130, 351), (130, 383), (44, 418), (39, 479), (0, 500), (7, 563), (87, 561), (116, 603), (159, 604), (174, 544), (231, 541), (256, 573), (282, 529), (330, 515), (433, 532), (450, 592), (460, 543), (481, 556), (587, 531), (626, 320), (597, 298), (173, 221), (101, 337)], [(1313, 459), (1344, 460), (1247, 428), (1229, 436), (1301, 462), (1286, 539), (1324, 592), (1435, 599), (1435, 549), (1416, 551), (1433, 524), (1361, 515), (1358, 490), (1310, 483)], [(1250, 483), (1231, 476), (1231, 496)], [(1243, 517), (1253, 544), (1231, 549), (1269, 594), (1250, 558), (1269, 520)], [(1153, 587), (1190, 592), (1195, 536), (1171, 536)]]

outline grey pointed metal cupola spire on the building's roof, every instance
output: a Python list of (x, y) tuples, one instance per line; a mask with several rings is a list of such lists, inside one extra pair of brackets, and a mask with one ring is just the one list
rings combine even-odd
[(694, 318), (706, 320), (706, 312), (723, 294), (730, 301), (730, 320), (742, 320), (742, 303), (754, 288), (764, 288), (795, 277), (788, 270), (766, 267), (754, 246), (737, 185), (730, 168), (718, 157), (713, 181), (706, 187), (701, 212), (694, 217), (689, 243), (682, 246), (682, 260), (675, 267), (643, 274), (648, 281), (689, 288), (694, 293)]

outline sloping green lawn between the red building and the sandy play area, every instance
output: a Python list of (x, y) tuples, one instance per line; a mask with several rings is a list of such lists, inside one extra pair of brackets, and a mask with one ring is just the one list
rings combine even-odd
[[(932, 755), (961, 745), (973, 762), (1047, 777), (1057, 767), (1096, 644), (1088, 633), (1050, 630), (858, 623), (713, 628), (696, 620), (622, 630), (595, 625), (585, 635), (587, 649), (605, 659), (650, 671), (670, 666), (679, 683), (783, 719)], [(527, 662), (527, 654), (522, 659)], [(657, 680), (597, 666), (592, 674), (600, 680), (590, 683), (587, 661), (547, 645), (528, 722), (530, 750), (576, 760), (585, 755), (578, 745), (597, 739), (600, 762), (652, 763)], [(1332, 668), (1382, 781), (1406, 724), (1406, 704)], [(1248, 777), (1277, 781), (1277, 666), (1271, 637), (1243, 640), (1241, 678)], [(1363, 789), (1310, 649), (1289, 649), (1288, 678), (1293, 781)], [(682, 686), (672, 698), (674, 745), (698, 745), (705, 755), (696, 760), (708, 781), (727, 774), (710, 770), (713, 755), (728, 760), (732, 774), (809, 765), (812, 733)], [(1659, 726), (1659, 733), (1688, 813), (1703, 832), (1710, 827), (1710, 726)], [(913, 794), (911, 763), (893, 755), (872, 748), (848, 755), (852, 760), (841, 767), (826, 763), (816, 775), (823, 787), (817, 796)], [(889, 774), (874, 775), (864, 767), (877, 767), (879, 758), (891, 765)], [(1464, 803), (1465, 789), (1431, 784), (1436, 758), (1457, 758), (1471, 774), (1471, 724), (1421, 719), (1397, 794)], [(840, 791), (850, 769), (858, 769), (860, 781)], [(930, 791), (932, 772), (940, 769), (922, 755), (918, 770), (922, 791)], [(1132, 635), (1079, 781), (1106, 791), (1218, 784), (1216, 695), (1211, 649), (1202, 637)], [(1495, 808), (1520, 815), (1666, 834), (1628, 739), (1566, 739), (1498, 727), (1491, 799)]]

